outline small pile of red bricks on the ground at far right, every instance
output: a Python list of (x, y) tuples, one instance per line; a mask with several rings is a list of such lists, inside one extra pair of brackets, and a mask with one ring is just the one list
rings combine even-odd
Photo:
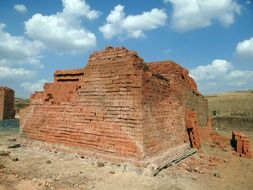
[(233, 131), (232, 146), (235, 148), (235, 151), (239, 154), (239, 156), (245, 156), (247, 158), (252, 157), (252, 153), (250, 151), (250, 141), (244, 134), (238, 131)]

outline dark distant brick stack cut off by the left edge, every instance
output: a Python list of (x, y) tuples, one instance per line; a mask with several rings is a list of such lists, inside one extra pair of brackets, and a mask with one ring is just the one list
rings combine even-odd
[(14, 91), (7, 87), (0, 87), (0, 120), (14, 117)]

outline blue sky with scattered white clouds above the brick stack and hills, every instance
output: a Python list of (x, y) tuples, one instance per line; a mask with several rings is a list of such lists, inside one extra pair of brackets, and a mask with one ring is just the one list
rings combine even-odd
[(203, 94), (253, 89), (253, 1), (0, 0), (0, 85), (18, 97), (105, 46), (174, 60)]

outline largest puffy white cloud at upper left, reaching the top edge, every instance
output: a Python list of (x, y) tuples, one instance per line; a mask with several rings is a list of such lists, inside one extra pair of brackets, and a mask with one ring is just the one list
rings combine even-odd
[(81, 18), (95, 19), (99, 12), (81, 0), (62, 0), (63, 11), (35, 14), (25, 22), (26, 34), (61, 53), (83, 52), (96, 46), (96, 36), (81, 26)]

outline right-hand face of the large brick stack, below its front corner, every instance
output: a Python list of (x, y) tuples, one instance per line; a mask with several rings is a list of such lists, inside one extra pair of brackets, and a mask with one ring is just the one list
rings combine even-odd
[(168, 151), (188, 141), (182, 96), (165, 79), (143, 77), (144, 148), (148, 156)]

